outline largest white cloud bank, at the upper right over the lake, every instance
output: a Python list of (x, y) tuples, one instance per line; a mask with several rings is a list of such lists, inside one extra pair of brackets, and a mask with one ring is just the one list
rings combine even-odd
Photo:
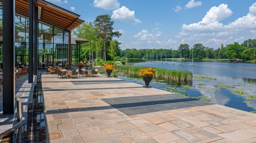
[(183, 24), (176, 38), (192, 46), (200, 42), (214, 48), (220, 46), (221, 43), (225, 45), (252, 38), (252, 35), (256, 33), (256, 2), (249, 7), (248, 14), (227, 24), (221, 22), (230, 17), (232, 13), (227, 4), (212, 7), (198, 23)]

